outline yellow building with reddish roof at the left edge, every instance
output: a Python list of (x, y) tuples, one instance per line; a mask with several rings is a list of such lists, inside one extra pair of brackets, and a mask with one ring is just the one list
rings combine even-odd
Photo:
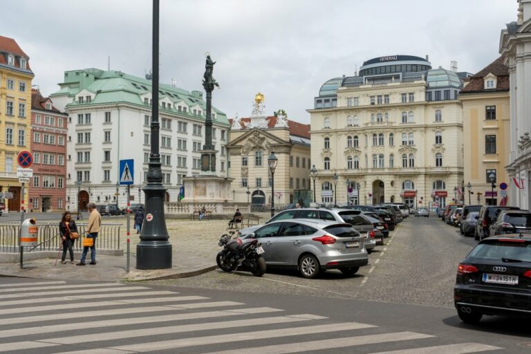
[(21, 198), (17, 178), (17, 154), (30, 151), (31, 82), (29, 57), (14, 39), (0, 36), (0, 192), (12, 198), (0, 200), (6, 211), (18, 212), (28, 203), (28, 186)]

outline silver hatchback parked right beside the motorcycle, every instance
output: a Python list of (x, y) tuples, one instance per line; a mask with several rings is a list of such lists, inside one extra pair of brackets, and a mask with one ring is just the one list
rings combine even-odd
[(348, 223), (293, 219), (240, 233), (242, 238), (260, 240), (268, 268), (294, 268), (305, 278), (316, 278), (320, 270), (327, 269), (352, 275), (369, 263), (365, 237)]

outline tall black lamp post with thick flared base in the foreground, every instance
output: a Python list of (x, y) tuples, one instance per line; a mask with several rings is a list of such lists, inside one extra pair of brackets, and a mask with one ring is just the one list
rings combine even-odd
[(164, 200), (166, 189), (162, 186), (160, 169), (158, 121), (158, 20), (159, 0), (153, 0), (153, 48), (151, 51), (153, 76), (151, 77), (151, 151), (147, 170), (145, 196), (145, 223), (136, 246), (136, 268), (165, 269), (171, 268), (171, 243), (166, 228)]

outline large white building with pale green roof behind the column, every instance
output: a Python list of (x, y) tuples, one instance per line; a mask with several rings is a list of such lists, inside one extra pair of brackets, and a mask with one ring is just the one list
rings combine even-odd
[[(66, 208), (89, 201), (127, 204), (117, 185), (119, 161), (134, 160), (131, 202), (143, 203), (150, 151), (151, 80), (97, 68), (66, 71), (61, 89), (50, 95), (68, 113)], [(200, 91), (160, 84), (160, 155), (166, 201), (178, 201), (183, 177), (201, 172), (206, 102)], [(227, 174), (229, 122), (212, 107), (212, 140), (219, 151), (218, 176)], [(186, 194), (186, 191), (184, 191)], [(117, 200), (118, 198), (118, 200)]]

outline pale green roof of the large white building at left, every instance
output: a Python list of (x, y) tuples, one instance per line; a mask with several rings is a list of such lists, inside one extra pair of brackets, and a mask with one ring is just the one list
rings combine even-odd
[[(144, 79), (122, 73), (120, 71), (102, 71), (97, 68), (88, 68), (84, 70), (65, 71), (64, 82), (60, 83), (61, 89), (52, 93), (50, 97), (57, 95), (68, 95), (73, 97), (82, 90), (95, 93), (95, 97), (90, 104), (109, 104), (116, 102), (127, 102), (129, 104), (137, 104), (145, 106), (141, 95), (151, 92), (151, 80)], [(174, 107), (179, 104), (186, 104), (189, 107), (199, 106), (201, 111), (206, 111), (206, 101), (201, 97), (202, 93), (199, 91), (186, 91), (183, 88), (174, 87), (167, 84), (159, 85), (159, 98), (167, 98), (173, 102)], [(66, 106), (77, 106), (77, 102), (67, 104)], [(84, 103), (84, 106), (87, 104)], [(160, 111), (172, 111), (179, 115), (187, 115), (196, 119), (205, 119), (205, 115), (194, 115), (191, 112), (182, 113), (177, 112), (172, 107), (171, 110), (163, 109)], [(227, 115), (222, 111), (212, 107), (212, 112), (216, 113), (214, 122), (221, 124), (229, 124)]]

